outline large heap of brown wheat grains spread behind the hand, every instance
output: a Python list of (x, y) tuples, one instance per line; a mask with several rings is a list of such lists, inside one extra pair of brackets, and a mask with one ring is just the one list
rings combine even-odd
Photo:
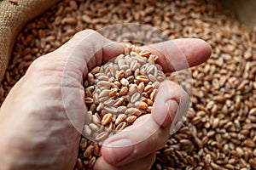
[(129, 22), (154, 26), (170, 40), (195, 37), (212, 46), (212, 57), (190, 70), (193, 98), (183, 127), (157, 151), (152, 169), (255, 169), (256, 30), (217, 0), (61, 1), (20, 31), (0, 84), (1, 104), (34, 59), (76, 32)]

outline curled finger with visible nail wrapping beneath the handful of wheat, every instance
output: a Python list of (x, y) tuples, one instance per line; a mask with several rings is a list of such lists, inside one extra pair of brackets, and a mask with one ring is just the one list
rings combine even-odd
[(188, 104), (183, 88), (171, 81), (161, 82), (152, 114), (138, 117), (130, 127), (106, 139), (102, 157), (112, 165), (123, 166), (159, 150), (166, 144), (169, 128), (183, 116)]

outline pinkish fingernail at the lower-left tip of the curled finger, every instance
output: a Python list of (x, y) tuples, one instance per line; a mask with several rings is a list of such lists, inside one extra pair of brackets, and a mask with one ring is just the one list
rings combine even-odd
[(108, 161), (109, 163), (118, 163), (131, 156), (134, 150), (134, 145), (130, 139), (119, 139), (107, 143), (108, 147)]

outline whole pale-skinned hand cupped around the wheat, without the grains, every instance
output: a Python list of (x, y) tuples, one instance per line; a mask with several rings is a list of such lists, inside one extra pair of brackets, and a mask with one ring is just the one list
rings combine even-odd
[[(36, 59), (0, 109), (1, 168), (73, 169), (79, 150), (79, 131), (83, 127), (80, 120), (85, 111), (81, 80), (96, 65), (123, 54), (124, 48), (123, 43), (111, 42), (87, 30), (79, 32), (54, 52)], [(175, 56), (179, 54), (184, 54), (189, 66), (201, 64), (211, 54), (209, 45), (198, 39), (178, 39), (144, 48), (160, 56), (159, 63), (165, 71), (188, 66), (177, 62)], [(170, 66), (170, 61), (178, 65)], [(168, 109), (172, 116), (183, 111), (179, 108), (180, 101), (188, 101), (182, 88), (174, 82), (162, 83), (152, 115), (142, 116), (127, 128), (129, 130), (107, 139), (95, 169), (149, 168), (154, 162), (155, 150), (164, 146), (169, 137), (172, 119)], [(138, 126), (142, 123), (148, 128)], [(137, 143), (138, 140), (142, 142)]]

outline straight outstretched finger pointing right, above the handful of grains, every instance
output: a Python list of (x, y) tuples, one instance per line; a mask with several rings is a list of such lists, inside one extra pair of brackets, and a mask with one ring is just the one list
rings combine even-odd
[(179, 71), (205, 62), (212, 54), (211, 46), (196, 38), (181, 38), (143, 46), (158, 55), (157, 62), (165, 72)]

